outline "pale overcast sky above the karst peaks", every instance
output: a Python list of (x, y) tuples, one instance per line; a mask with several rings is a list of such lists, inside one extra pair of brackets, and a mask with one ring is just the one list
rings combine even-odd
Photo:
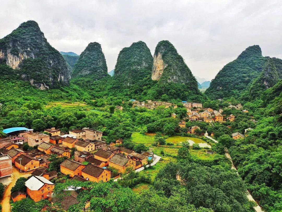
[(151, 53), (169, 40), (195, 76), (211, 80), (248, 46), (282, 58), (282, 1), (2, 1), (0, 38), (35, 20), (58, 51), (102, 46), (108, 71), (118, 53), (144, 41)]

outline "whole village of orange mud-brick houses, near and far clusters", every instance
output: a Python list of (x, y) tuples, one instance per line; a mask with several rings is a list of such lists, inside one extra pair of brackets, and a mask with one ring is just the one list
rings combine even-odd
[[(154, 109), (160, 105), (177, 108), (177, 105), (163, 101), (139, 102), (134, 99), (133, 107), (146, 107)], [(201, 103), (191, 103), (182, 101), (183, 106), (187, 109), (187, 116), (180, 120), (179, 127), (185, 128), (186, 122), (233, 122), (234, 115), (226, 116), (222, 114), (223, 109), (219, 111), (211, 108), (203, 108)], [(230, 105), (229, 108), (242, 110), (241, 104), (236, 106)], [(122, 106), (116, 106), (116, 110), (123, 110)], [(248, 113), (247, 110), (242, 110)], [(173, 118), (179, 118), (177, 114), (171, 114)], [(255, 121), (255, 120), (253, 120)], [(188, 128), (188, 134), (197, 134), (200, 130), (198, 126)], [(251, 128), (245, 129), (245, 133)], [(127, 172), (128, 168), (138, 170), (148, 164), (153, 163), (156, 157), (154, 152), (137, 153), (131, 149), (122, 146), (122, 139), (107, 144), (102, 139), (103, 133), (89, 127), (82, 129), (69, 130), (68, 134), (63, 133), (60, 129), (52, 127), (45, 129), (44, 132), (34, 132), (33, 129), (25, 127), (13, 127), (4, 129), (6, 138), (0, 139), (0, 181), (9, 183), (9, 177), (16, 168), (20, 173), (30, 173), (31, 178), (25, 182), (26, 192), (13, 192), (12, 201), (16, 202), (29, 196), (35, 202), (42, 199), (52, 201), (54, 183), (52, 179), (58, 176), (55, 170), (49, 171), (50, 156), (66, 158), (60, 164), (60, 174), (67, 176), (70, 180), (108, 182), (113, 176), (111, 170), (115, 169), (119, 174)], [(213, 136), (213, 133), (211, 133)], [(245, 135), (235, 132), (232, 133), (233, 139), (244, 138)], [(36, 147), (26, 150), (25, 145)], [(211, 150), (207, 153), (212, 154)], [(114, 179), (120, 175), (114, 176)], [(66, 188), (68, 189), (68, 188)], [(72, 188), (75, 190), (75, 188)]]

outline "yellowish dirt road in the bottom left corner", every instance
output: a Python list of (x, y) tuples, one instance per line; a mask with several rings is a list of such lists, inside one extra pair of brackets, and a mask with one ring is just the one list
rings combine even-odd
[(6, 187), (5, 191), (4, 191), (4, 195), (3, 195), (3, 200), (1, 202), (2, 205), (2, 212), (10, 212), (10, 197), (11, 197), (11, 189), (12, 187), (16, 184), (17, 179), (21, 178), (21, 177), (28, 177), (30, 176), (30, 173), (27, 172), (22, 172), (20, 173), (19, 170), (17, 168), (15, 168), (13, 166), (12, 168), (13, 170), (13, 178), (11, 183)]

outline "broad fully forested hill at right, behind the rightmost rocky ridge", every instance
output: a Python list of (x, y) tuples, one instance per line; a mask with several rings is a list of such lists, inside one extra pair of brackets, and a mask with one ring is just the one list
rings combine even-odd
[(267, 58), (258, 45), (246, 48), (237, 59), (226, 64), (210, 83), (205, 94), (212, 99), (237, 98), (258, 77)]

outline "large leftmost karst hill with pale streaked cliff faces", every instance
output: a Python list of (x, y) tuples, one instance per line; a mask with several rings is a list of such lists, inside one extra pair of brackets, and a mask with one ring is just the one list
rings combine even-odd
[(2, 76), (23, 79), (40, 89), (69, 84), (65, 60), (47, 42), (35, 21), (22, 23), (12, 33), (0, 39), (0, 63), (13, 69), (1, 72)]

